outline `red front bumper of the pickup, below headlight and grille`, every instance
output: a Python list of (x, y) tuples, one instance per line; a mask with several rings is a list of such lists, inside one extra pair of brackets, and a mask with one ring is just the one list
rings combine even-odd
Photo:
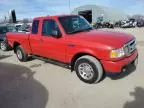
[(126, 57), (120, 61), (105, 61), (101, 60), (101, 63), (103, 65), (103, 68), (106, 73), (121, 73), (123, 72), (124, 67), (127, 67), (129, 64), (135, 61), (135, 59), (138, 57), (137, 50), (134, 51), (134, 53)]

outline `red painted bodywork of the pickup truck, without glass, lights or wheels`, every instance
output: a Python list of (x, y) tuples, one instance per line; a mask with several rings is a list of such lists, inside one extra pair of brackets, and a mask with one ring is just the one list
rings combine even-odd
[[(130, 34), (91, 30), (76, 34), (66, 34), (58, 20), (59, 16), (39, 17), (38, 34), (7, 33), (8, 42), (13, 47), (18, 42), (29, 54), (51, 58), (64, 63), (71, 63), (79, 53), (86, 53), (98, 58), (104, 69), (109, 72), (119, 72), (121, 68), (135, 59), (137, 50), (130, 57), (111, 59), (110, 51), (121, 48), (134, 39)], [(61, 38), (42, 36), (42, 23), (45, 19), (53, 19), (62, 33)]]

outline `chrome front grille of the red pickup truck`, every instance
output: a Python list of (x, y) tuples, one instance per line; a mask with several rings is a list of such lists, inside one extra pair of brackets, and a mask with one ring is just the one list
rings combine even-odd
[(130, 42), (128, 42), (127, 44), (125, 44), (125, 52), (126, 52), (127, 56), (131, 55), (135, 49), (136, 49), (136, 40), (135, 39), (133, 39)]

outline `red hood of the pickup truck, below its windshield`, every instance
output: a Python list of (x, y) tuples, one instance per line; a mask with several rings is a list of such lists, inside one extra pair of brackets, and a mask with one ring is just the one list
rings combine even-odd
[(73, 35), (72, 37), (75, 38), (75, 40), (83, 40), (87, 43), (100, 43), (112, 48), (120, 48), (134, 39), (130, 34), (102, 30), (91, 30), (89, 32), (80, 32)]

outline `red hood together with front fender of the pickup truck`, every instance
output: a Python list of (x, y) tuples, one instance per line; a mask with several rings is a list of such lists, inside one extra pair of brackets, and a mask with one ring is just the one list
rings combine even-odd
[(121, 48), (134, 39), (132, 35), (121, 32), (106, 32), (100, 30), (92, 30), (90, 32), (82, 32), (73, 35), (68, 35), (68, 43), (75, 44), (76, 47), (68, 50), (68, 62), (78, 52), (91, 54), (98, 59), (112, 60), (109, 58), (112, 49)]

